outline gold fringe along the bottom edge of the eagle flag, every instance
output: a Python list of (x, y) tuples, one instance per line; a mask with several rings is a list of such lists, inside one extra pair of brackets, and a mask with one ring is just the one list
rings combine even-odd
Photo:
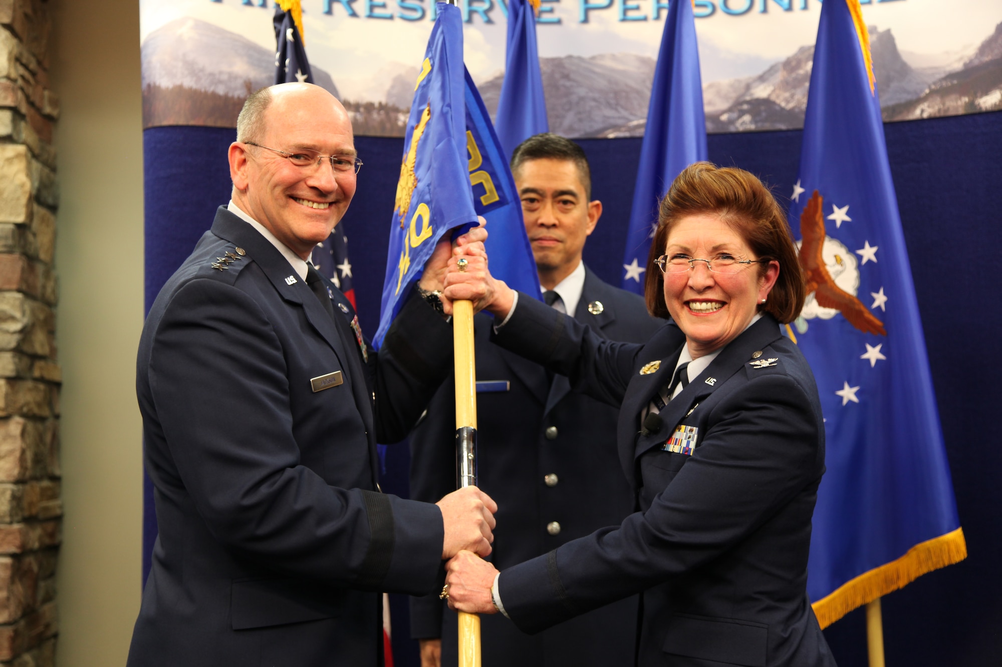
[(912, 583), (927, 572), (967, 558), (964, 531), (955, 531), (921, 542), (892, 561), (846, 582), (812, 605), (818, 624), (827, 628), (857, 607)]

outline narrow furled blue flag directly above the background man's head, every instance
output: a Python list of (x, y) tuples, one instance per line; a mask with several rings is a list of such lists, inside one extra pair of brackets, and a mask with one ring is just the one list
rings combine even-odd
[(546, 120), (543, 76), (536, 51), (536, 14), (539, 0), (510, 0), (504, 80), (494, 118), (504, 155), (511, 154), (533, 134), (550, 131)]

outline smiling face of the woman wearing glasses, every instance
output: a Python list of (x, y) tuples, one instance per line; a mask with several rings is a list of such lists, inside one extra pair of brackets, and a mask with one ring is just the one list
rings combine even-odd
[[(664, 253), (712, 258), (721, 254), (758, 259), (737, 229), (715, 214), (689, 215), (675, 222)], [(685, 333), (693, 359), (733, 341), (755, 316), (780, 275), (780, 263), (747, 264), (736, 273), (710, 271), (706, 263), (664, 274), (664, 300), (671, 318)]]

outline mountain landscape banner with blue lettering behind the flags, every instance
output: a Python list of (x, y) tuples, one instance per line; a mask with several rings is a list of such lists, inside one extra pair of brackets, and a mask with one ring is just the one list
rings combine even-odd
[[(543, 0), (536, 37), (549, 129), (640, 136), (668, 0)], [(820, 0), (695, 0), (706, 130), (802, 127)], [(272, 82), (266, 0), (140, 0), (143, 125), (232, 127)], [(506, 0), (459, 0), (466, 65), (493, 116), (504, 81)], [(431, 0), (303, 0), (316, 82), (356, 135), (403, 136), (436, 15)], [(1002, 109), (1002, 2), (868, 0), (885, 120)]]

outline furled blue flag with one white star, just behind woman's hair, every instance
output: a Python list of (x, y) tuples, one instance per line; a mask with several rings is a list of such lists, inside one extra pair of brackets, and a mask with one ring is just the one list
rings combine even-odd
[(682, 169), (704, 159), (706, 119), (702, 111), (692, 6), (688, 2), (672, 2), (664, 19), (647, 106), (647, 125), (623, 252), (623, 289), (643, 294), (643, 272), (657, 224), (657, 202)]

